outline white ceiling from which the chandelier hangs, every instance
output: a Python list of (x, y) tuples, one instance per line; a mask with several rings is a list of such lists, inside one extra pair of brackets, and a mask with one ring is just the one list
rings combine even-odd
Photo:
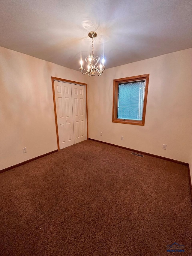
[(107, 68), (192, 47), (192, 0), (1, 0), (0, 46), (79, 69), (94, 55)]

